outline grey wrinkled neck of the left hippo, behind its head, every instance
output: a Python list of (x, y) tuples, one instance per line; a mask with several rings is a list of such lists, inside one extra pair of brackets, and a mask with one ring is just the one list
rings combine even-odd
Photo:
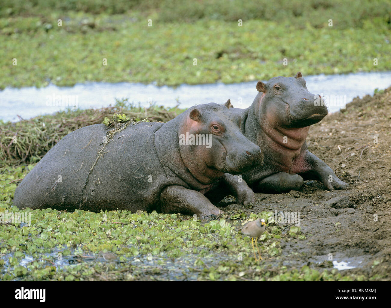
[(155, 148), (163, 167), (169, 168), (191, 188), (205, 193), (224, 173), (206, 166), (203, 156), (195, 148), (201, 146), (179, 147), (179, 135), (186, 135), (186, 131), (189, 131), (189, 121), (195, 122), (188, 117), (188, 112), (184, 112), (164, 124), (154, 134)]

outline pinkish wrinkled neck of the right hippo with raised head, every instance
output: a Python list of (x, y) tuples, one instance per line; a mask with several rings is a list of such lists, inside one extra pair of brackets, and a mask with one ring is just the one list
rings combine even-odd
[[(280, 165), (282, 172), (289, 172), (293, 160), (307, 149), (305, 140), (309, 126), (292, 129), (280, 126), (275, 114), (262, 103), (264, 95), (259, 93), (248, 108), (245, 133), (260, 146), (264, 156)], [(256, 123), (257, 127), (253, 127), (252, 123)]]

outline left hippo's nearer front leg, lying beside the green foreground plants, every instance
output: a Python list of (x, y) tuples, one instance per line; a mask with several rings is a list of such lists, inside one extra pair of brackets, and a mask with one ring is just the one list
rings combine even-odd
[(160, 194), (160, 202), (164, 213), (190, 213), (201, 218), (224, 213), (202, 193), (178, 185), (167, 186)]

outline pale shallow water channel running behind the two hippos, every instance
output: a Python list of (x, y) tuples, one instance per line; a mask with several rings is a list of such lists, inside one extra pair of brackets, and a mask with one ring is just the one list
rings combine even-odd
[[(352, 73), (338, 75), (304, 76), (311, 93), (320, 94), (329, 103), (329, 112), (344, 108), (353, 97), (373, 94), (375, 89), (391, 85), (391, 72)], [(151, 103), (180, 108), (196, 104), (224, 103), (231, 99), (234, 107), (247, 108), (257, 92), (256, 81), (234, 84), (180, 85), (158, 87), (142, 83), (79, 83), (73, 87), (48, 85), (44, 88), (5, 88), (0, 91), (0, 119), (18, 121), (17, 115), (28, 119), (43, 114), (72, 108), (100, 108), (115, 104), (115, 98), (129, 98), (136, 106)]]

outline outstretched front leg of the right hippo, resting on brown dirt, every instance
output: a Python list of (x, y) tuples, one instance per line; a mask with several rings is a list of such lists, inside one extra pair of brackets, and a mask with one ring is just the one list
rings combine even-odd
[(328, 190), (348, 188), (348, 183), (338, 179), (333, 170), (310, 151), (306, 152), (304, 160), (312, 168), (309, 172), (303, 174), (299, 173), (304, 179), (321, 181)]

